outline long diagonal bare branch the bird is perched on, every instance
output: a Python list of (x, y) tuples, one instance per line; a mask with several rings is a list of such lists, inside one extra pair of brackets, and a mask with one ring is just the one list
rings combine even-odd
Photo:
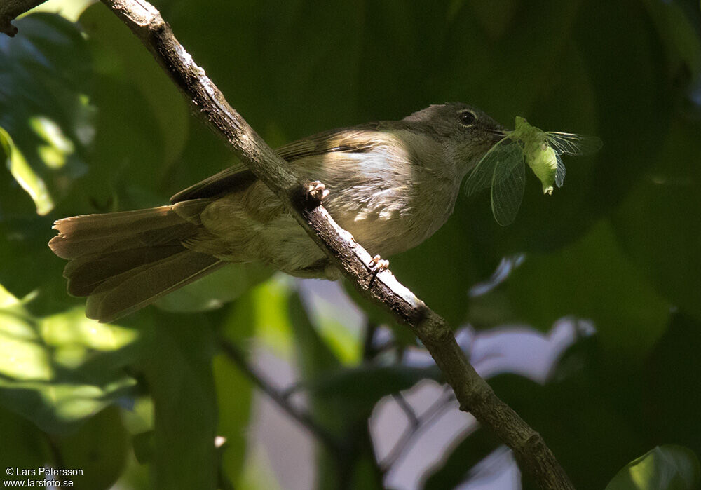
[[(35, 1), (29, 3), (36, 4)], [(477, 421), (494, 430), (514, 451), (521, 468), (538, 482), (540, 488), (573, 489), (540, 434), (499, 400), (486, 381), (475, 372), (445, 320), (400, 284), (390, 271), (374, 275), (367, 266), (370, 254), (355, 242), (348, 231), (334, 222), (320, 200), (308, 193), (306, 183), (299, 182), (287, 162), (268, 147), (226, 102), (204, 70), (193, 62), (175, 39), (158, 10), (145, 0), (102, 0), (102, 3), (114, 11), (144, 43), (191, 102), (193, 109), (283, 201), (287, 210), (356, 289), (409, 326), (428, 348), (453, 388), (461, 410), (470, 411)], [(0, 20), (3, 10), (0, 8)]]

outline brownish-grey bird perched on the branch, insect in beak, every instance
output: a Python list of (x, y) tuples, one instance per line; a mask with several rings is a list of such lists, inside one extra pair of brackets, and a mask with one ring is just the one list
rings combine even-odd
[[(452, 102), (399, 121), (320, 132), (276, 151), (300, 182), (323, 183), (329, 214), (377, 263), (440, 229), (465, 175), (503, 136), (484, 112)], [(243, 164), (176, 193), (168, 205), (67, 217), (53, 228), (58, 234), (48, 245), (68, 260), (67, 291), (87, 297), (86, 316), (100, 322), (230, 263), (259, 261), (300, 278), (341, 277)]]

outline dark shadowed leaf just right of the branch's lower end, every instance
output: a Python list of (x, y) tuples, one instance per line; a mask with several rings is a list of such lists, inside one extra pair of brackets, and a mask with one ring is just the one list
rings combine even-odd
[[(649, 444), (650, 423), (639, 420), (644, 405), (639, 368), (611, 362), (596, 339), (582, 343), (563, 360), (569, 375), (557, 372), (545, 386), (514, 374), (500, 374), (489, 384), (538, 430), (576, 488), (601, 489), (618, 470), (615, 461)], [(525, 488), (533, 489), (532, 483)]]

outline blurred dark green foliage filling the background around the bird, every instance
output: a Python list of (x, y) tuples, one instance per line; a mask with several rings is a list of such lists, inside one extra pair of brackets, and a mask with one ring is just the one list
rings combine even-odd
[[(219, 350), (226, 339), (299, 366), (296, 392), (343, 442), (341, 452), (320, 447), (318, 486), (379, 487), (367, 417), (382, 397), (440, 378), (339, 327), (294, 281), (256, 264), (225, 268), (118, 325), (87, 320), (65, 293), (63, 262), (46, 246), (54, 219), (160, 205), (234, 161), (113, 14), (68, 3), (42, 6), (64, 17), (27, 15), (18, 36), (0, 36), (0, 461), (89, 469), (76, 485), (91, 490), (284, 488), (254, 475), (267, 463), (249, 440), (253, 387)], [(572, 161), (553, 196), (527, 176), (512, 226), (494, 222), (486, 193), (461, 198), (435, 236), (391, 257), (392, 270), (455, 327), (591, 320), (597, 334), (569, 349), (550, 383), (492, 380), (578, 488), (629, 488), (633, 470), (634, 488), (697, 475), (695, 1), (154, 4), (273, 146), (447, 100), (505, 125), (518, 115), (601, 137), (604, 149)], [(525, 259), (505, 280), (471, 293), (515, 254)], [(357, 300), (369, 325), (393, 323)], [(397, 354), (414, 348), (391, 326)], [(426, 486), (463, 482), (495, 447), (477, 430)]]

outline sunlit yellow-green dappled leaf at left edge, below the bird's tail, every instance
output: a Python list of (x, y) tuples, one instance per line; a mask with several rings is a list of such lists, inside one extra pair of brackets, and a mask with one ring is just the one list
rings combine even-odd
[(88, 320), (83, 308), (37, 318), (0, 293), (0, 404), (65, 434), (130, 393), (122, 367), (135, 358), (137, 332)]

